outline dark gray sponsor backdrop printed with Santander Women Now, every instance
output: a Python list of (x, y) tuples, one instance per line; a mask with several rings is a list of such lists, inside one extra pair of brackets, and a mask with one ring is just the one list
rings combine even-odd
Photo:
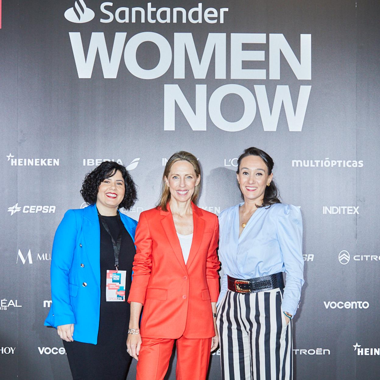
[(128, 166), (138, 220), (166, 160), (188, 150), (203, 169), (199, 206), (218, 214), (239, 202), (249, 146), (272, 155), (304, 219), (295, 378), (380, 378), (378, 1), (0, 5), (0, 378), (70, 378), (43, 321), (55, 228), (86, 206), (87, 172)]

